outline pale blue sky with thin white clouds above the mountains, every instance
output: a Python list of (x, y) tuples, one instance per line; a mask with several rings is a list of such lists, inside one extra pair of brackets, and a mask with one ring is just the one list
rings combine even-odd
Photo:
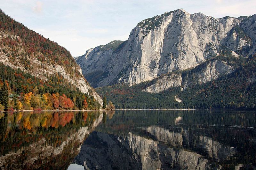
[(0, 0), (0, 8), (73, 56), (125, 41), (143, 19), (183, 8), (214, 18), (256, 13), (256, 0)]

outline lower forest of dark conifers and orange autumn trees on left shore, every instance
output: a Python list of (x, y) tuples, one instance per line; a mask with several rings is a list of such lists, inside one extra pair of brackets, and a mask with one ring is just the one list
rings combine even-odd
[(98, 109), (93, 96), (82, 93), (60, 73), (47, 81), (0, 63), (0, 110)]

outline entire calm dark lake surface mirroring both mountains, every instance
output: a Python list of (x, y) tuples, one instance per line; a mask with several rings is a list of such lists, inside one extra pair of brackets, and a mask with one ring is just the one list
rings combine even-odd
[(255, 111), (0, 113), (0, 169), (255, 168)]

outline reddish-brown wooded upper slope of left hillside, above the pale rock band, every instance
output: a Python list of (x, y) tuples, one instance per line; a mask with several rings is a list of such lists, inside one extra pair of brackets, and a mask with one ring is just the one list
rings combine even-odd
[(24, 66), (26, 70), (33, 70), (34, 66), (31, 65), (29, 58), (36, 57), (42, 62), (43, 67), (47, 64), (59, 64), (67, 72), (79, 74), (79, 67), (67, 49), (23, 26), (2, 10), (0, 29), (0, 51), (10, 58), (11, 63)]

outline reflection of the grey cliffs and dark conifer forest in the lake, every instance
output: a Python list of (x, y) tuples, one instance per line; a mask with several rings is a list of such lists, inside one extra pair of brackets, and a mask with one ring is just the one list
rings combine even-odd
[(105, 122), (74, 163), (85, 169), (255, 168), (254, 112), (118, 111)]

